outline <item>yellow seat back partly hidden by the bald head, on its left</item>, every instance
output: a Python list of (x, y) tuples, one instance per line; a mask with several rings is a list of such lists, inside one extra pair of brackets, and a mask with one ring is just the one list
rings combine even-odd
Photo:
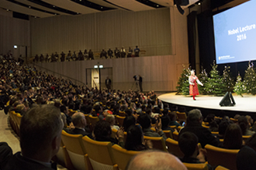
[(119, 170), (124, 170), (130, 158), (132, 158), (133, 155), (139, 154), (140, 151), (127, 151), (119, 145), (112, 145), (112, 153)]

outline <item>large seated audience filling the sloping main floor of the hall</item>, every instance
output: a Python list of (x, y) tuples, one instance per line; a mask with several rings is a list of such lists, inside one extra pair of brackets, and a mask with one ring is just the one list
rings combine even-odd
[[(41, 157), (36, 155), (38, 153), (34, 153), (36, 149), (33, 148), (34, 139), (29, 138), (29, 133), (31, 135), (36, 133), (35, 127), (38, 124), (41, 125), (40, 128), (43, 127), (43, 118), (47, 117), (47, 121), (52, 124), (53, 121), (48, 119), (53, 117), (56, 122), (56, 115), (54, 117), (53, 114), (49, 116), (45, 113), (47, 111), (52, 113), (53, 110), (58, 110), (61, 113), (60, 117), (63, 122), (63, 124), (60, 123), (61, 129), (67, 133), (82, 134), (95, 141), (110, 141), (112, 145), (119, 145), (127, 150), (151, 150), (154, 145), (151, 141), (145, 141), (144, 136), (162, 137), (165, 141), (167, 137), (164, 131), (174, 132), (181, 129), (179, 131), (178, 145), (184, 154), (184, 157), (180, 158), (182, 162), (206, 162), (206, 150), (204, 149), (206, 145), (240, 149), (238, 157), (241, 157), (241, 155), (247, 156), (246, 151), (249, 150), (251, 151), (250, 158), (256, 158), (254, 120), (250, 116), (236, 115), (234, 120), (237, 121), (232, 121), (227, 116), (216, 117), (214, 114), (209, 114), (203, 119), (201, 111), (195, 109), (189, 111), (187, 120), (184, 120), (183, 123), (183, 121), (176, 120), (176, 113), (177, 111), (182, 112), (185, 108), (162, 103), (161, 100), (157, 99), (157, 94), (154, 91), (139, 93), (133, 90), (98, 90), (87, 86), (81, 87), (72, 83), (71, 80), (57, 78), (37, 70), (36, 67), (26, 66), (22, 61), (16, 61), (16, 59), (8, 55), (0, 57), (0, 68), (2, 70), (0, 75), (0, 107), (5, 109), (5, 114), (15, 111), (22, 115), (20, 142), (22, 155), (27, 155), (27, 158), (42, 161)], [(49, 108), (44, 106), (49, 106)], [(88, 124), (85, 115), (99, 117), (99, 121), (93, 125)], [(122, 126), (116, 124), (115, 116), (125, 117)], [(33, 121), (38, 122), (40, 120), (42, 123), (33, 124)], [(29, 129), (29, 125), (26, 126), (27, 124), (33, 127), (33, 130)], [(52, 127), (52, 129), (57, 128)], [(113, 130), (116, 130), (116, 135), (112, 134)], [(214, 134), (212, 132), (218, 133)], [(61, 135), (59, 133), (60, 131), (56, 130), (56, 134), (55, 132), (51, 134)], [(124, 138), (125, 133), (126, 138)], [(51, 134), (43, 133), (42, 135)], [(248, 141), (244, 141), (243, 136), (245, 135), (249, 135), (251, 138)], [(223, 142), (220, 142), (222, 139)], [(38, 145), (37, 143), (43, 142), (43, 140), (43, 137), (36, 140), (36, 146)], [(199, 148), (198, 143), (201, 144), (202, 148)], [(54, 147), (56, 146), (54, 145)], [(48, 154), (50, 158), (56, 152), (56, 148), (47, 149), (53, 151)], [(180, 161), (176, 160), (177, 158), (165, 155), (166, 153), (152, 151), (145, 152), (144, 155), (147, 157), (153, 153), (162, 155), (165, 158), (170, 157), (170, 160), (175, 160), (174, 162), (176, 163), (174, 165), (179, 166), (177, 169), (185, 169), (180, 164)], [(47, 153), (45, 154), (47, 155)], [(13, 162), (18, 162), (17, 160), (22, 155), (15, 155), (15, 158), (10, 158), (12, 165), (8, 160), (2, 161), (2, 165), (7, 164), (6, 167), (9, 167), (3, 169), (12, 169)], [(143, 155), (137, 156), (137, 158), (141, 156)], [(157, 158), (154, 159), (156, 160)], [(242, 167), (238, 169), (243, 169), (247, 165), (244, 163), (247, 160), (237, 160), (237, 167)], [(48, 159), (44, 159), (44, 161), (48, 161)], [(134, 169), (136, 165), (136, 159), (133, 158), (128, 165), (128, 169)], [(250, 166), (256, 168), (254, 165), (250, 164)], [(212, 168), (209, 165), (209, 169)]]

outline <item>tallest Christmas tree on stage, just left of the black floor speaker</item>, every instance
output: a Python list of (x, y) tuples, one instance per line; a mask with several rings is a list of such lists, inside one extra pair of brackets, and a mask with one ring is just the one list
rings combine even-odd
[(212, 70), (209, 73), (209, 81), (207, 84), (207, 93), (213, 94), (214, 96), (223, 96), (224, 84), (223, 77), (219, 75), (219, 71), (217, 70), (218, 65), (213, 61)]

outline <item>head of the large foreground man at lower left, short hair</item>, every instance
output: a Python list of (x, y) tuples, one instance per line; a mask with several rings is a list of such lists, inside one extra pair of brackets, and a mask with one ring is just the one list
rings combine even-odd
[(63, 122), (61, 111), (52, 105), (38, 105), (22, 117), (20, 148), (22, 155), (41, 162), (50, 162), (61, 143)]

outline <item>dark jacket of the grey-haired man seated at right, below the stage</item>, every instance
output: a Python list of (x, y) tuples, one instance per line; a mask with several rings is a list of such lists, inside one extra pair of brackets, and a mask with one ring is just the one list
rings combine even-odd
[(202, 145), (202, 148), (205, 148), (206, 144), (216, 147), (219, 146), (219, 138), (216, 138), (207, 128), (203, 128), (201, 124), (187, 124), (185, 128), (182, 128), (179, 135), (185, 131), (194, 133), (197, 138), (199, 138), (199, 143)]

